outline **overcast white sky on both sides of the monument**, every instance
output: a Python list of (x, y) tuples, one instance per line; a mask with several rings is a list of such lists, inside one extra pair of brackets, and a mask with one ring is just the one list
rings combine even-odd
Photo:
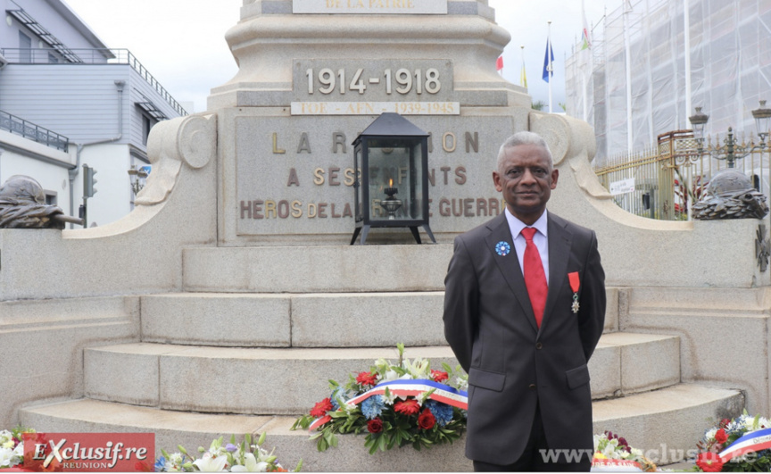
[[(179, 102), (206, 108), (206, 97), (237, 71), (225, 32), (239, 20), (243, 0), (65, 0), (81, 19), (112, 48), (126, 48)], [(622, 0), (584, 0), (586, 19), (601, 21), (605, 6)], [(565, 59), (580, 37), (581, 0), (489, 0), (495, 20), (511, 34), (503, 52), (503, 77), (519, 84), (525, 46), (527, 86), (534, 102), (548, 102), (542, 79), (543, 57), (551, 21), (554, 49), (552, 104), (562, 112), (565, 101)], [(184, 5), (184, 6), (180, 6)]]

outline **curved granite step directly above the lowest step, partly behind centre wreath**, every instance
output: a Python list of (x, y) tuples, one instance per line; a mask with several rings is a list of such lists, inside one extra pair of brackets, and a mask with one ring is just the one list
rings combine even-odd
[[(604, 335), (589, 364), (594, 396), (676, 384), (679, 350), (677, 337)], [(457, 365), (446, 345), (410, 346), (405, 356), (427, 358), (436, 369), (442, 362)], [(90, 398), (170, 410), (297, 414), (326, 396), (328, 379), (344, 382), (380, 357), (395, 362), (398, 353), (395, 347), (107, 345), (85, 350), (84, 388)]]

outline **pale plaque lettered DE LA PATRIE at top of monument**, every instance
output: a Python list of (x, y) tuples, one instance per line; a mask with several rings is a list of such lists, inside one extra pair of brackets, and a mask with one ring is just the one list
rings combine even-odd
[(447, 0), (294, 0), (293, 13), (447, 14)]

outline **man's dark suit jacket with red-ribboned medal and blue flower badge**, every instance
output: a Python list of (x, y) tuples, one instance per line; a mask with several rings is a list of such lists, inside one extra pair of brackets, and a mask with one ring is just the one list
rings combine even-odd
[[(444, 279), (444, 336), (468, 372), (466, 455), (475, 461), (516, 462), (536, 403), (550, 449), (593, 448), (586, 362), (604, 325), (605, 273), (593, 230), (549, 212), (548, 234), (549, 293), (540, 330), (504, 213), (455, 239)], [(506, 256), (496, 254), (499, 242), (509, 243)], [(580, 279), (577, 314), (568, 282), (573, 271)]]

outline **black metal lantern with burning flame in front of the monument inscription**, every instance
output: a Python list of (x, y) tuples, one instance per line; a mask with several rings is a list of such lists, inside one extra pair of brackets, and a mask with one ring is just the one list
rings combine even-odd
[(386, 112), (353, 141), (353, 168), (361, 170), (355, 191), (356, 229), (367, 242), (373, 227), (409, 227), (420, 243), (428, 226), (428, 134), (398, 113)]

